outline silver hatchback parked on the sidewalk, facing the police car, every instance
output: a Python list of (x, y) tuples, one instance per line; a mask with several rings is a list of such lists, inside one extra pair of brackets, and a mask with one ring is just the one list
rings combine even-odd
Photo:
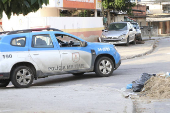
[(102, 30), (99, 37), (100, 42), (109, 42), (111, 44), (126, 44), (130, 42), (136, 44), (136, 30), (130, 22), (113, 22), (109, 24), (107, 30)]

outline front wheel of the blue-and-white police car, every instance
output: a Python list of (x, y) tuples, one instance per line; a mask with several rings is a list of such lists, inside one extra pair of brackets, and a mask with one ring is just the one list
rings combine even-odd
[(108, 57), (101, 57), (95, 63), (95, 73), (98, 76), (108, 77), (113, 73), (114, 63)]

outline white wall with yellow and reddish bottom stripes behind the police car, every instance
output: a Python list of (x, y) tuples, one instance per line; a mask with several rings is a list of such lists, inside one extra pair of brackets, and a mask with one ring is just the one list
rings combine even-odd
[(98, 41), (103, 27), (102, 17), (3, 17), (5, 31), (50, 26), (76, 35), (90, 42)]

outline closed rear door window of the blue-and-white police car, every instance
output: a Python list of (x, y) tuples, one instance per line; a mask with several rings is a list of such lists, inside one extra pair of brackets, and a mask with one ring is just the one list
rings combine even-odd
[(53, 48), (50, 35), (34, 35), (32, 37), (32, 47), (34, 48)]

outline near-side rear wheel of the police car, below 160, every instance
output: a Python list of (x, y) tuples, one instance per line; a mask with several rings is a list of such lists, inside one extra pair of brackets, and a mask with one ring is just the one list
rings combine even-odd
[(17, 88), (29, 87), (34, 79), (33, 71), (27, 66), (19, 66), (14, 69), (11, 82)]

